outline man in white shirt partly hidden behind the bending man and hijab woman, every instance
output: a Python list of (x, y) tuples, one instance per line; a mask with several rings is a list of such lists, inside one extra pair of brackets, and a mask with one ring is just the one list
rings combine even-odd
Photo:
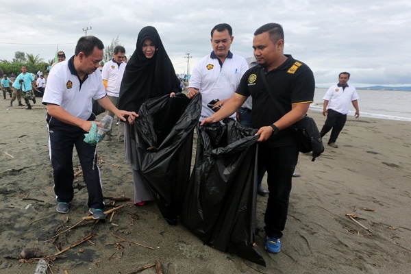
[[(116, 46), (114, 48), (113, 58), (109, 62), (105, 63), (103, 66), (103, 71), (101, 72), (101, 77), (103, 78), (103, 84), (105, 91), (107, 92), (107, 97), (117, 106), (119, 103), (120, 86), (121, 80), (123, 79), (124, 69), (127, 65), (125, 62), (125, 48), (123, 46)], [(108, 115), (114, 117), (114, 113), (107, 111)], [(112, 129), (107, 132), (104, 140), (111, 140)], [(119, 125), (119, 134), (117, 139), (121, 140), (124, 136), (124, 125), (121, 123)]]

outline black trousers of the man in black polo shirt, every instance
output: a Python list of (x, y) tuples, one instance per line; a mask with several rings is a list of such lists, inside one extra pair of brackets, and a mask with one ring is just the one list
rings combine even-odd
[(265, 168), (269, 199), (264, 216), (266, 235), (281, 238), (286, 226), (292, 173), (297, 165), (299, 151), (296, 146), (269, 148), (259, 145), (258, 174)]

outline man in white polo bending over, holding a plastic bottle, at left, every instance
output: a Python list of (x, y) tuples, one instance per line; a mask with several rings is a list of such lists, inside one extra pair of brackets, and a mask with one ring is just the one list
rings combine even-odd
[[(135, 112), (119, 110), (106, 96), (99, 64), (104, 45), (94, 36), (84, 36), (75, 47), (75, 55), (68, 61), (55, 64), (50, 71), (42, 103), (47, 105), (49, 154), (53, 166), (54, 192), (60, 213), (69, 212), (74, 197), (73, 147), (82, 164), (84, 182), (88, 190), (88, 207), (93, 219), (105, 219), (100, 171), (95, 146), (84, 142), (95, 114), (92, 99), (103, 108), (132, 123)], [(94, 122), (101, 126), (101, 123)]]

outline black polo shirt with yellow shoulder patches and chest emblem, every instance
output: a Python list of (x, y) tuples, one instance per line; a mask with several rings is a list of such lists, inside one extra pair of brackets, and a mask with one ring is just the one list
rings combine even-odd
[[(283, 116), (268, 92), (273, 92), (275, 99), (286, 112), (291, 110), (292, 104), (312, 103), (314, 99), (315, 82), (311, 69), (291, 55), (286, 57), (286, 62), (277, 69), (267, 73), (262, 66), (254, 66), (241, 78), (236, 93), (253, 97), (251, 124), (254, 128), (271, 125)], [(271, 90), (266, 90), (260, 73), (265, 73)], [(264, 145), (269, 147), (295, 145), (295, 138), (292, 132), (284, 129), (271, 136)]]

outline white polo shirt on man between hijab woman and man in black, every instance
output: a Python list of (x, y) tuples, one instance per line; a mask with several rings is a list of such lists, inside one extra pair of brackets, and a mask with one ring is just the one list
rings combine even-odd
[[(229, 51), (223, 65), (212, 51), (192, 69), (189, 88), (198, 88), (203, 98), (200, 121), (214, 114), (207, 104), (214, 99), (229, 99), (237, 90), (242, 75), (249, 69), (247, 61)], [(230, 116), (236, 119), (236, 114)]]

